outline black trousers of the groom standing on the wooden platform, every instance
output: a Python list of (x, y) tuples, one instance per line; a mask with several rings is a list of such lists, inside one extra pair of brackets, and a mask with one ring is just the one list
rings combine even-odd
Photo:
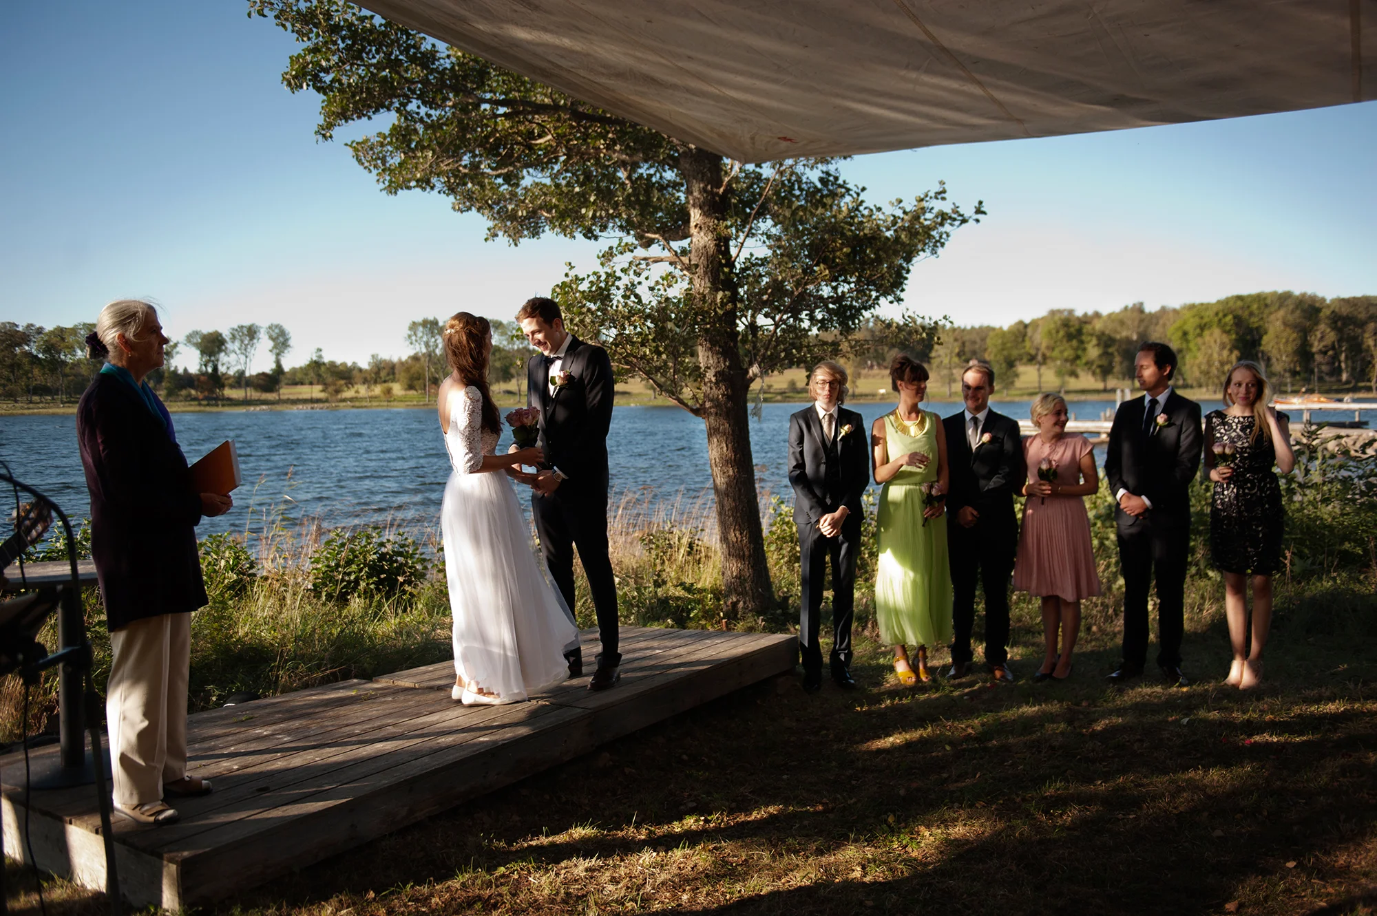
[(574, 549), (578, 549), (598, 612), (598, 638), (602, 641), (598, 660), (618, 664), (617, 580), (607, 557), (607, 491), (589, 492), (566, 480), (549, 495), (533, 492), (530, 508), (545, 568), (570, 611), (574, 609)]

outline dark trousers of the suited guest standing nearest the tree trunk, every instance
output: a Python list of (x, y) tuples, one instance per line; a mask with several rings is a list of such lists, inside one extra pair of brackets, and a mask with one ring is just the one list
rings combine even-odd
[(799, 525), (803, 572), (803, 609), (799, 615), (799, 655), (804, 671), (822, 670), (822, 593), (832, 561), (832, 656), (833, 670), (851, 664), (851, 620), (855, 613), (856, 552), (861, 549), (861, 513), (841, 523), (841, 534), (823, 536), (817, 523)]

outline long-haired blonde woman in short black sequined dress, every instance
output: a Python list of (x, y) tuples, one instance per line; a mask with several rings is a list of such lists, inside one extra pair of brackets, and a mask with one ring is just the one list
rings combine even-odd
[[(1205, 470), (1215, 481), (1209, 550), (1224, 574), (1224, 615), (1234, 662), (1224, 684), (1248, 690), (1263, 675), (1263, 646), (1272, 624), (1272, 575), (1282, 558), (1283, 475), (1296, 466), (1286, 414), (1267, 406), (1263, 367), (1241, 360), (1224, 377), (1224, 410), (1205, 417)], [(1249, 644), (1248, 578), (1253, 578)]]

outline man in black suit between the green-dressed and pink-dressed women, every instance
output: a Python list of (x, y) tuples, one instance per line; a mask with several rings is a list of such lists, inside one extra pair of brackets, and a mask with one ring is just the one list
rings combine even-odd
[(1009, 576), (1019, 546), (1013, 494), (1023, 487), (1023, 437), (1016, 419), (990, 410), (994, 370), (971, 360), (961, 374), (965, 410), (942, 421), (950, 458), (947, 563), (952, 569), (952, 670), (971, 673), (975, 586), (985, 591), (985, 664), (997, 684), (1009, 668)]

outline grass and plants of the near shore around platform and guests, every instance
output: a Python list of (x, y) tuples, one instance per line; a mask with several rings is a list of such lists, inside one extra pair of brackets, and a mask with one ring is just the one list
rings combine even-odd
[[(1015, 685), (903, 688), (862, 598), (854, 692), (808, 696), (795, 678), (737, 692), (207, 912), (1377, 912), (1371, 477), (1370, 464), (1303, 452), (1257, 692), (1220, 685), (1228, 642), (1205, 486), (1187, 586), (1195, 684), (1104, 685), (1122, 585), (1102, 494), (1088, 505), (1106, 594), (1085, 602), (1066, 684), (1030, 682), (1041, 624), (1016, 596)], [(720, 616), (704, 523), (701, 510), (618, 516), (622, 619), (788, 630), (797, 554), (785, 506), (767, 534), (781, 607), (753, 620)], [(198, 707), (448, 657), (443, 586), (424, 552), (339, 538), (282, 534), (257, 556), (223, 535), (202, 543), (213, 601), (193, 624)], [(862, 557), (861, 583), (873, 563)], [(19, 699), (7, 682), (10, 732)], [(51, 714), (48, 685), (30, 729)], [(11, 906), (36, 912), (32, 872), (10, 864), (7, 882)], [(103, 912), (98, 894), (61, 880), (45, 877), (44, 894), (51, 912)]]

